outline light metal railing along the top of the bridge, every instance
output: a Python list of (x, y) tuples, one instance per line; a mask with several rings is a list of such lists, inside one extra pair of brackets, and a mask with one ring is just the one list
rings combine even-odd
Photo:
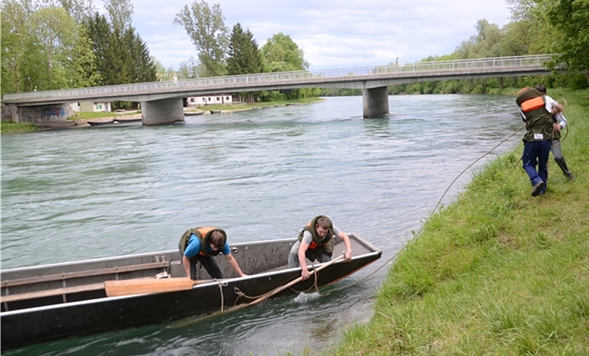
[(76, 88), (62, 90), (45, 90), (37, 92), (16, 93), (4, 95), (4, 100), (43, 100), (59, 98), (100, 98), (115, 95), (142, 95), (149, 93), (170, 93), (187, 90), (206, 90), (215, 88), (217, 92), (225, 89), (243, 88), (244, 86), (268, 85), (272, 83), (300, 83), (313, 79), (344, 78), (350, 76), (377, 75), (409, 75), (431, 73), (432, 71), (447, 72), (459, 70), (484, 70), (499, 68), (525, 68), (543, 66), (554, 55), (543, 54), (534, 56), (514, 56), (497, 58), (474, 58), (457, 61), (432, 61), (390, 64), (386, 66), (336, 68), (323, 70), (295, 70), (291, 72), (259, 73), (246, 75), (227, 75), (222, 77), (196, 78), (172, 80), (166, 82), (135, 83), (123, 85), (108, 85), (91, 88)]

